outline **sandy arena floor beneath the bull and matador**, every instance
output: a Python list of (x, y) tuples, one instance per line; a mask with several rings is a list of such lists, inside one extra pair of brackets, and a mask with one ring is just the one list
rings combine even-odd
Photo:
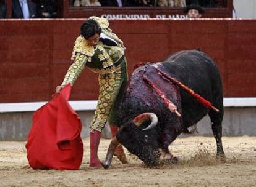
[[(105, 159), (111, 140), (101, 139)], [(256, 137), (223, 137), (226, 163), (216, 161), (213, 137), (177, 138), (169, 147), (179, 164), (153, 169), (127, 152), (129, 164), (114, 157), (109, 169), (88, 167), (88, 138), (80, 170), (33, 170), (25, 141), (0, 141), (0, 186), (256, 186)]]

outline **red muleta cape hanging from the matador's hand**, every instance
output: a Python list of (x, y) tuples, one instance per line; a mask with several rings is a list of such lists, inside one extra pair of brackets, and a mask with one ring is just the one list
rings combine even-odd
[(69, 105), (71, 86), (33, 113), (27, 159), (33, 169), (78, 170), (83, 158), (82, 123)]

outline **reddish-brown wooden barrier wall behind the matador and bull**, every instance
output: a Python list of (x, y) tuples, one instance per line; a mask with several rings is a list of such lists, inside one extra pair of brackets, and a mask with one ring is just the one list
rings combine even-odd
[[(0, 102), (47, 101), (61, 84), (83, 19), (0, 20)], [(200, 47), (218, 64), (224, 97), (256, 96), (256, 20), (110, 20), (126, 44), (129, 73)], [(70, 100), (96, 100), (98, 75), (88, 68)]]

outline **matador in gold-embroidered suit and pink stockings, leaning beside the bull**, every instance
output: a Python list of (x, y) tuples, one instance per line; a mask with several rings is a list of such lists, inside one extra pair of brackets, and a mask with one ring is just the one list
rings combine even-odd
[[(125, 49), (121, 39), (109, 28), (108, 20), (89, 17), (82, 24), (80, 36), (75, 41), (72, 53), (74, 63), (69, 66), (61, 86), (56, 87), (56, 93), (59, 93), (66, 84), (73, 85), (85, 66), (99, 74), (98, 104), (95, 116), (89, 125), (90, 167), (101, 167), (98, 146), (101, 130), (105, 127), (106, 121), (109, 122), (113, 137), (118, 130), (117, 109), (128, 81)], [(122, 163), (127, 163), (122, 145), (117, 146), (114, 155)]]

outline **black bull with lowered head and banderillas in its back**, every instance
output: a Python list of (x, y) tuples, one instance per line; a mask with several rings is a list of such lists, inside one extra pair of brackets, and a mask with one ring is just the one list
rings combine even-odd
[[(171, 160), (168, 146), (181, 133), (189, 133), (188, 127), (207, 114), (216, 139), (217, 157), (224, 159), (223, 89), (218, 67), (208, 55), (187, 50), (163, 62), (139, 66), (124, 93), (119, 110), (120, 129), (102, 165), (109, 167), (118, 143), (149, 167), (163, 159)], [(148, 125), (150, 128), (145, 129)]]

